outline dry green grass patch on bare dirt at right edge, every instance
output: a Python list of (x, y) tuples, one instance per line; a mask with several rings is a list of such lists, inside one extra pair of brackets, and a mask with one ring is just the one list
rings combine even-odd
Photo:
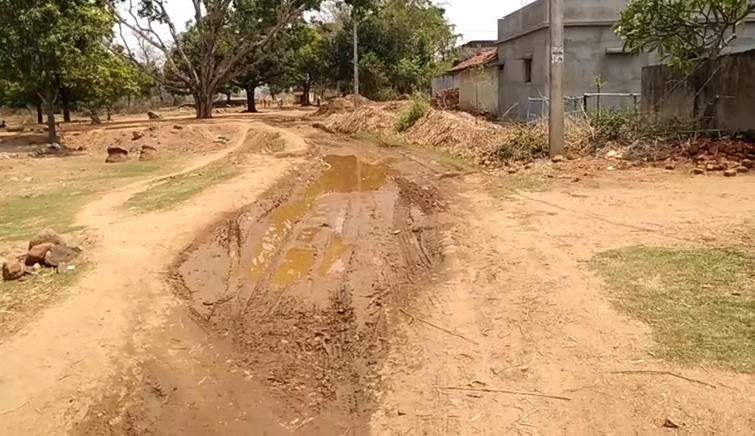
[(652, 328), (664, 357), (755, 372), (755, 258), (637, 246), (601, 253), (591, 266), (613, 304)]

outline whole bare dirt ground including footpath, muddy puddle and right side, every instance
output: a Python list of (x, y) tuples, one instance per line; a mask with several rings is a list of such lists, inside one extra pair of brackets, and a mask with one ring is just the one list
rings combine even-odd
[(302, 115), (184, 120), (231, 141), (179, 172), (250, 129), (286, 150), (164, 211), (119, 209), (149, 179), (84, 206), (92, 270), (0, 342), (0, 434), (755, 434), (752, 376), (659, 359), (585, 267), (748, 246), (755, 178), (566, 168), (504, 195)]

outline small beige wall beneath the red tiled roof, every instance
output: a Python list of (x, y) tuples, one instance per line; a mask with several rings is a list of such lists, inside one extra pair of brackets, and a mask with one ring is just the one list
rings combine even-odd
[(482, 71), (467, 69), (458, 76), (459, 109), (498, 113), (498, 66), (485, 67)]

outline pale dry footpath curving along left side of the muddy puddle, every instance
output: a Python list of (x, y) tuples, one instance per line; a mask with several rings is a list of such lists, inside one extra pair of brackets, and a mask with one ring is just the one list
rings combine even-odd
[[(240, 147), (246, 129), (238, 123), (235, 143), (195, 159), (190, 172)], [(113, 209), (150, 181), (104, 195), (89, 204), (79, 222), (97, 241), (88, 253), (96, 268), (72, 295), (49, 308), (22, 332), (0, 344), (0, 434), (62, 434), (97, 401), (93, 396), (141, 347), (140, 331), (160, 323), (172, 303), (165, 287), (173, 257), (199, 229), (254, 200), (290, 161), (259, 156), (232, 182), (165, 212), (123, 217)]]

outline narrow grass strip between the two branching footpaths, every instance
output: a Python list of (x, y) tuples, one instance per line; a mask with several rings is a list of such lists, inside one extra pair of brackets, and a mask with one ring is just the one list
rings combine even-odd
[(235, 177), (238, 173), (236, 166), (222, 159), (199, 170), (162, 179), (144, 191), (132, 195), (123, 207), (142, 212), (167, 209), (213, 185)]

